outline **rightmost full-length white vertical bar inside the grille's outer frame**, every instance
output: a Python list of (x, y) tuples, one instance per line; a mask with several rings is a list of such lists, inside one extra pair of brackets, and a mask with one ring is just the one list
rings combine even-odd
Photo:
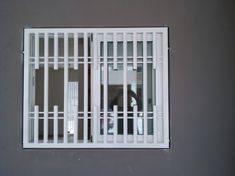
[(144, 89), (144, 143), (147, 142), (147, 119), (148, 119), (148, 95), (147, 95), (147, 41), (146, 41), (146, 33), (143, 33), (143, 89)]

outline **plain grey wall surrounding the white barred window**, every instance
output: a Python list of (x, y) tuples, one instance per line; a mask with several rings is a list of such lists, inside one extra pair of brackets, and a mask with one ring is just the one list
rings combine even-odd
[[(2, 0), (0, 175), (232, 176), (232, 1)], [(171, 148), (22, 149), (24, 27), (169, 26)]]

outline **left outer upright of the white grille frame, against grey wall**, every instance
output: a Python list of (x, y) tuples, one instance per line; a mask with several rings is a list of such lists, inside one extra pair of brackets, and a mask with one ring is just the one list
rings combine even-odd
[(29, 32), (24, 35), (24, 146), (29, 139)]

